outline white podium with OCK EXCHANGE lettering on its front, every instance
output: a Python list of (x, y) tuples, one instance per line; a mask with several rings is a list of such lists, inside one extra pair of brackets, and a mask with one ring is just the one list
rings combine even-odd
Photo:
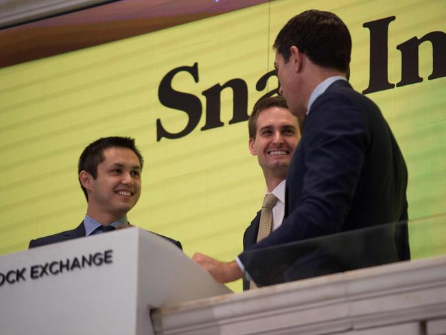
[(0, 334), (154, 334), (150, 309), (230, 293), (137, 228), (0, 257)]

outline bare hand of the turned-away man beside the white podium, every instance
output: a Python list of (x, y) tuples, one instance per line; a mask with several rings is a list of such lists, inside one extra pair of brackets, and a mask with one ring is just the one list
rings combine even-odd
[(228, 283), (243, 277), (242, 270), (240, 270), (237, 262), (220, 262), (217, 259), (203, 255), (202, 253), (195, 253), (192, 259), (198, 263), (204, 270), (207, 270), (215, 279), (221, 284)]

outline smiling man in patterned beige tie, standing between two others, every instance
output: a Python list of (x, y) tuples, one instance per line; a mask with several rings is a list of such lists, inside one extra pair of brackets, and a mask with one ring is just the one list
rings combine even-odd
[[(266, 194), (274, 194), (277, 203), (272, 207), (271, 231), (280, 227), (285, 215), (285, 178), (291, 157), (301, 139), (302, 121), (292, 115), (281, 96), (259, 100), (248, 119), (249, 151), (257, 156), (266, 183)], [(259, 240), (261, 211), (257, 212), (243, 236), (243, 249)], [(243, 288), (250, 283), (244, 279)]]

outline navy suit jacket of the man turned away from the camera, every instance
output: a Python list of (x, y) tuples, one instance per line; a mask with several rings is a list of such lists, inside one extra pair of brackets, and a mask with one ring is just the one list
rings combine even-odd
[[(333, 82), (305, 118), (281, 227), (248, 250), (407, 220), (407, 182), (406, 163), (379, 108), (348, 82)], [(409, 259), (407, 229), (397, 240), (399, 259)], [(239, 259), (253, 275), (245, 252)]]

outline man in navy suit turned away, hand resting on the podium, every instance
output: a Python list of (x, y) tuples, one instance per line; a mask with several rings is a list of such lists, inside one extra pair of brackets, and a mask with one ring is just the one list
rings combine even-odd
[[(288, 21), (273, 47), (280, 91), (291, 113), (305, 116), (287, 175), (285, 219), (240, 254), (240, 264), (194, 255), (220, 282), (242, 277), (241, 268), (258, 279), (259, 259), (249, 257), (254, 250), (408, 219), (408, 172), (395, 137), (379, 108), (346, 80), (347, 26), (333, 13), (309, 10)], [(386, 248), (395, 255), (385, 262), (410, 258), (407, 226), (399, 228)], [(379, 244), (362, 250), (370, 257), (365, 264), (379, 263), (374, 259)]]

